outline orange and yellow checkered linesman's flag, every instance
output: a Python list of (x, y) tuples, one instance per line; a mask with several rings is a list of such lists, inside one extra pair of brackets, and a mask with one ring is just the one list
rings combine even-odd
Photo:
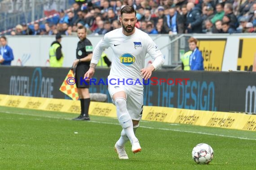
[(60, 87), (60, 91), (71, 97), (73, 100), (79, 99), (75, 85), (75, 75), (72, 69), (67, 73), (66, 78)]

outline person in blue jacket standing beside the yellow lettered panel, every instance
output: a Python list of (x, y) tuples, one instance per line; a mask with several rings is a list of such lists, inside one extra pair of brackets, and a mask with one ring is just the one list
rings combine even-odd
[(204, 70), (202, 52), (197, 47), (197, 39), (191, 37), (188, 40), (190, 50), (193, 51), (190, 55), (190, 70)]

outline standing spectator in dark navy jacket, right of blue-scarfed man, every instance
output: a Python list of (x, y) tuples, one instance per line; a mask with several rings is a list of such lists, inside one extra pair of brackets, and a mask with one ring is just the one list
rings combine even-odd
[(187, 10), (186, 33), (202, 33), (201, 10), (192, 2), (187, 4)]

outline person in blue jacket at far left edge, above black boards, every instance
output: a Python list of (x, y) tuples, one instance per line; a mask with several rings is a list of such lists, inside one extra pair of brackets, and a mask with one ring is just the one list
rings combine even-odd
[(11, 65), (13, 60), (13, 50), (7, 45), (6, 37), (0, 37), (0, 64), (1, 65)]

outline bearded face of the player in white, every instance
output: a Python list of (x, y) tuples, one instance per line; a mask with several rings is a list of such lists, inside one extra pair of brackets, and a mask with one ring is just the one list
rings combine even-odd
[(124, 13), (121, 20), (122, 20), (122, 26), (124, 30), (128, 33), (131, 33), (134, 30), (135, 23), (137, 21), (135, 17), (135, 13), (132, 13), (132, 14)]

